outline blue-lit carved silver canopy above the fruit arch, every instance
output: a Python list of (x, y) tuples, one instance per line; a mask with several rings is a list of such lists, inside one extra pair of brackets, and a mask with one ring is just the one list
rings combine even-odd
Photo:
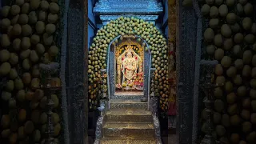
[(94, 7), (94, 13), (99, 15), (103, 25), (121, 15), (155, 22), (162, 11), (162, 2), (158, 0), (99, 0)]

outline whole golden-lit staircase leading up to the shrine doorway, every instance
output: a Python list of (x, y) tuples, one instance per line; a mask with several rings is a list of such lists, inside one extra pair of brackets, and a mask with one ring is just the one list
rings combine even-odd
[[(133, 96), (135, 97), (135, 96)], [(100, 144), (156, 144), (154, 119), (148, 103), (139, 98), (122, 96), (110, 100), (102, 122)]]

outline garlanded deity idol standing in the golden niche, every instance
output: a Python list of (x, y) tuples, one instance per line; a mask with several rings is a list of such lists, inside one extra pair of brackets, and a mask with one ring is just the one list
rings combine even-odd
[(122, 82), (127, 80), (133, 80), (134, 76), (137, 74), (138, 70), (138, 59), (133, 57), (131, 50), (127, 51), (126, 58), (122, 61)]

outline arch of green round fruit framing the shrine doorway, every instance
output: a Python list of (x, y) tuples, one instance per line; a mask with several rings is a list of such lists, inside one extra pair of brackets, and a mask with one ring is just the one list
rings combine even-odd
[[(166, 63), (168, 63), (166, 38), (162, 36), (153, 23), (145, 22), (142, 19), (134, 17), (119, 17), (109, 22), (106, 26), (98, 30), (94, 42), (90, 46), (88, 66), (90, 109), (97, 108), (97, 91), (99, 90), (97, 83), (100, 78), (99, 70), (106, 69), (108, 46), (118, 35), (124, 36), (125, 34), (139, 35), (148, 43), (152, 54), (151, 67), (156, 68), (154, 89), (156, 94), (160, 96), (162, 110), (167, 110), (168, 97), (170, 94), (168, 91), (168, 65), (166, 65)], [(107, 87), (103, 86), (103, 88), (106, 92)]]

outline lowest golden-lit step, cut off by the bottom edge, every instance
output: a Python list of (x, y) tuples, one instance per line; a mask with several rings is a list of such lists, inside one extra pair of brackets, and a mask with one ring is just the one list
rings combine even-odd
[(102, 138), (101, 144), (156, 144), (154, 138)]

